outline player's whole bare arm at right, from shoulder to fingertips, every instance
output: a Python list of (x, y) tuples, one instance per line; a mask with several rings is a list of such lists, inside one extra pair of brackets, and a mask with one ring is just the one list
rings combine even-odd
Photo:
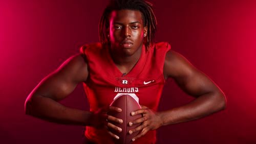
[(180, 54), (172, 50), (167, 52), (163, 73), (165, 79), (173, 78), (182, 90), (196, 99), (186, 105), (166, 111), (155, 112), (146, 106), (142, 106), (142, 109), (132, 112), (132, 115), (143, 115), (143, 117), (129, 122), (130, 126), (142, 123), (129, 131), (130, 134), (141, 131), (132, 139), (133, 141), (150, 130), (156, 130), (161, 126), (170, 124), (192, 121), (220, 111), (226, 106), (225, 95), (221, 89)]

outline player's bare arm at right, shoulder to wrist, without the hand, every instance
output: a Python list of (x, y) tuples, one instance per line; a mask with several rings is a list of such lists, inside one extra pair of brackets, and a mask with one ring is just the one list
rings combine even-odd
[(172, 50), (166, 54), (164, 76), (173, 78), (183, 91), (196, 99), (181, 107), (160, 112), (162, 125), (191, 121), (225, 108), (226, 99), (221, 89)]

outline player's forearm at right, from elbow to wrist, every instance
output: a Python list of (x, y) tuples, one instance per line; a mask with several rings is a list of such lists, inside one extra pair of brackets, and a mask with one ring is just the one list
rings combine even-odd
[(225, 108), (226, 100), (222, 92), (203, 94), (181, 107), (159, 112), (162, 125), (193, 121)]

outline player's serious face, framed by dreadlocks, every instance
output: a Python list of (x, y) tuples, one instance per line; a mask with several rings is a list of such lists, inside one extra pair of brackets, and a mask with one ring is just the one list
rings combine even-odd
[(119, 10), (110, 15), (111, 50), (116, 54), (132, 56), (142, 47), (147, 28), (143, 27), (140, 11)]

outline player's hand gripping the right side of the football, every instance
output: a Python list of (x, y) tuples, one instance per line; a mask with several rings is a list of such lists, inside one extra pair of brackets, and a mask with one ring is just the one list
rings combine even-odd
[(162, 119), (159, 115), (159, 113), (151, 110), (150, 108), (146, 106), (142, 106), (142, 109), (133, 111), (131, 115), (137, 115), (142, 114), (143, 116), (141, 118), (136, 119), (133, 122), (129, 122), (129, 125), (132, 126), (134, 124), (142, 123), (137, 128), (130, 130), (129, 133), (132, 134), (137, 131), (141, 131), (137, 136), (135, 136), (132, 140), (136, 140), (137, 138), (145, 135), (150, 130), (155, 130), (162, 126)]

